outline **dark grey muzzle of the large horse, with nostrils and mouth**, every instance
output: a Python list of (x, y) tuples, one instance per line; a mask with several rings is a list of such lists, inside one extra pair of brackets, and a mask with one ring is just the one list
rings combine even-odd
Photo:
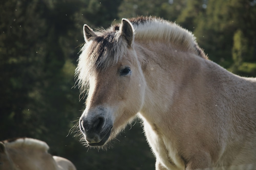
[(100, 114), (87, 112), (84, 115), (83, 113), (79, 127), (89, 146), (102, 146), (108, 141), (113, 124), (103, 116), (101, 110)]

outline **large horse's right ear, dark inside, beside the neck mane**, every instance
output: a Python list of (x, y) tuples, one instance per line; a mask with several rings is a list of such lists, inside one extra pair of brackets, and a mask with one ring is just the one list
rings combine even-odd
[(131, 22), (127, 19), (122, 19), (122, 24), (120, 26), (121, 35), (125, 38), (129, 46), (132, 46), (134, 29)]

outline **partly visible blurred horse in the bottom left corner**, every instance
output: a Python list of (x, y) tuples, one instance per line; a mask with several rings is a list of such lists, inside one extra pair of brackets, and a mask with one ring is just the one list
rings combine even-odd
[(72, 162), (48, 150), (44, 141), (32, 138), (0, 141), (0, 170), (76, 170)]

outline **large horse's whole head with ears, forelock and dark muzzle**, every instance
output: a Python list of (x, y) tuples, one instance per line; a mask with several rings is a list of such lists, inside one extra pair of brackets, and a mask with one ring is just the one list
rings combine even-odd
[(89, 146), (102, 146), (140, 110), (145, 84), (130, 21), (98, 34), (84, 25), (84, 39), (76, 72), (89, 91), (79, 125)]

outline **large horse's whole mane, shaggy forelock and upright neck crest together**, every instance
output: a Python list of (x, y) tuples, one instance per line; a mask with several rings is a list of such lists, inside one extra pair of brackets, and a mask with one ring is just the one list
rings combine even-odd
[[(137, 17), (128, 19), (135, 30), (136, 41), (166, 41), (179, 45), (183, 50), (208, 59), (204, 51), (198, 46), (196, 38), (188, 30), (176, 23), (156, 17)], [(86, 92), (89, 82), (90, 70), (104, 69), (122, 59), (127, 50), (126, 41), (120, 35), (121, 23), (112, 25), (108, 29), (95, 31), (97, 37), (91, 37), (91, 41), (85, 43), (78, 58), (76, 84), (81, 94)]]

